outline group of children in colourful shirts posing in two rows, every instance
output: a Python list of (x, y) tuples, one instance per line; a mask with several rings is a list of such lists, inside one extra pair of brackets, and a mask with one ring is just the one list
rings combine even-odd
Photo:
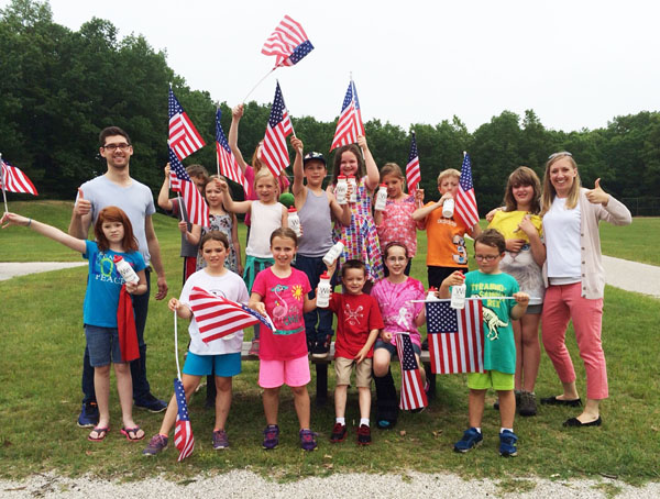
[[(454, 169), (442, 171), (438, 177), (440, 200), (422, 206), (424, 191), (418, 189), (411, 195), (406, 193), (405, 177), (396, 164), (387, 164), (378, 171), (366, 140), (361, 136), (358, 145), (343, 146), (337, 151), (332, 180), (323, 189), (323, 180), (328, 174), (326, 159), (319, 153), (305, 155), (302, 142), (293, 137), (296, 157), (290, 188), (302, 228), (301, 236), (297, 236), (287, 226), (287, 208), (278, 202), (279, 195), (288, 186), (275, 179), (258, 163), (256, 152), (254, 165), (246, 165), (235, 146), (241, 115), (242, 107), (234, 108), (229, 142), (239, 164), (253, 178), (252, 190), (245, 201), (232, 200), (227, 180), (221, 176), (208, 177), (199, 166), (188, 167), (188, 173), (206, 196), (210, 212), (209, 228), (189, 224), (180, 199), (168, 199), (168, 167), (165, 168), (166, 179), (158, 196), (158, 204), (180, 219), (185, 285), (180, 297), (172, 298), (168, 307), (179, 318), (190, 319), (190, 344), (183, 369), (186, 397), (195, 391), (202, 376), (212, 376), (209, 385), (217, 391), (211, 398), (216, 407), (213, 448), (229, 446), (226, 422), (231, 406), (232, 377), (241, 372), (243, 332), (210, 343), (201, 341), (190, 308), (193, 287), (248, 303), (272, 318), (274, 329), (271, 331), (262, 326), (261, 334), (255, 331), (258, 342), (253, 344), (253, 352), (257, 352), (260, 358), (258, 385), (263, 388), (266, 419), (263, 446), (266, 450), (275, 448), (279, 442), (277, 415), (282, 385), (288, 385), (294, 395), (300, 426), (300, 446), (306, 451), (317, 447), (317, 434), (312, 432), (310, 424), (307, 391), (307, 384), (310, 381), (308, 353), (315, 356), (327, 355), (333, 336), (332, 313), (337, 314), (336, 422), (330, 441), (338, 443), (346, 437), (346, 392), (351, 384), (351, 372), (354, 369), (360, 404), (356, 441), (366, 445), (371, 443), (372, 374), (376, 379), (377, 397), (392, 400), (393, 386), (383, 380), (387, 376), (392, 378), (389, 363), (396, 354), (395, 334), (410, 335), (421, 368), (419, 357), (422, 342), (418, 328), (425, 323), (426, 314), (424, 303), (419, 300), (425, 299), (426, 291), (420, 281), (409, 277), (411, 259), (417, 251), (416, 231), (420, 229), (428, 233), (429, 286), (439, 289), (440, 298), (447, 298), (452, 286), (465, 284), (468, 297), (490, 298), (485, 300), (484, 307), (492, 309), (504, 324), (497, 341), (485, 341), (486, 373), (469, 375), (470, 429), (454, 448), (465, 452), (482, 441), (484, 397), (488, 388), (494, 388), (498, 392), (502, 418), (499, 452), (505, 456), (516, 455), (517, 437), (513, 431), (516, 411), (514, 373), (518, 373), (518, 369), (510, 324), (512, 320), (525, 317), (529, 296), (519, 291), (516, 279), (499, 269), (501, 260), (506, 255), (505, 245), (508, 244), (499, 232), (487, 230), (482, 233), (479, 225), (468, 228), (455, 217), (443, 217), (443, 202), (455, 195), (460, 173)], [(349, 182), (348, 201), (341, 203), (334, 196), (340, 175), (355, 178), (352, 187)], [(385, 184), (387, 188), (387, 202), (384, 210), (374, 211), (372, 198), (378, 184)], [(509, 188), (510, 186), (507, 190)], [(522, 206), (519, 209), (529, 210), (529, 207)], [(54, 228), (12, 213), (6, 214), (2, 222), (31, 226), (36, 232), (79, 251), (90, 260), (90, 275), (96, 271), (92, 264), (102, 268), (105, 262), (118, 254), (129, 260), (141, 276), (144, 263), (141, 263), (140, 253), (135, 252), (130, 221), (117, 208), (108, 214), (103, 212), (95, 226), (97, 243), (76, 240)], [(250, 215), (244, 265), (241, 262), (237, 213)], [(529, 221), (529, 217), (522, 217), (518, 223), (519, 228), (512, 229), (512, 232), (522, 230), (528, 234), (532, 250), (537, 248), (537, 225)], [(513, 228), (510, 223), (509, 226)], [(479, 270), (466, 275), (465, 234), (475, 237), (474, 250), (479, 266)], [(334, 264), (326, 265), (323, 256), (339, 240), (344, 244), (341, 256)], [(535, 251), (535, 258), (536, 253)], [(100, 342), (96, 336), (105, 337), (98, 346), (99, 357), (92, 358), (92, 365), (97, 369), (95, 382), (98, 382), (97, 397), (101, 418), (89, 440), (101, 441), (108, 433), (110, 362), (114, 364), (118, 378), (123, 414), (122, 433), (125, 432), (130, 440), (141, 440), (144, 432), (131, 417), (131, 380), (125, 375), (127, 359), (119, 351), (117, 317), (113, 320), (111, 312), (119, 307), (122, 289), (129, 293), (144, 292), (143, 276), (138, 284), (132, 284), (124, 281), (111, 266), (107, 266), (106, 270), (108, 269), (114, 274), (102, 282), (103, 299), (112, 298), (103, 307), (107, 318), (102, 318), (99, 312), (97, 319), (97, 311), (92, 310), (92, 303), (99, 302), (101, 290), (97, 289), (91, 279), (85, 304), (90, 354), (97, 351), (96, 344)], [(319, 308), (316, 303), (316, 289), (323, 271), (332, 277), (333, 284), (342, 285), (343, 292), (333, 292), (329, 307)], [(338, 276), (334, 275), (336, 271)], [(238, 275), (241, 273), (243, 279)], [(514, 301), (498, 300), (497, 297), (513, 297)], [(522, 322), (524, 328), (525, 323)], [(536, 324), (538, 328), (538, 321)], [(95, 333), (97, 329), (101, 332)], [(96, 353), (92, 354), (95, 355)], [(536, 378), (536, 374), (534, 377)], [(518, 378), (515, 384), (518, 387)], [(396, 396), (396, 391), (394, 395)], [(176, 412), (176, 398), (173, 397), (160, 432), (143, 451), (145, 455), (158, 454), (167, 447)], [(378, 426), (389, 428), (389, 423), (391, 420), (383, 418), (378, 421)]]

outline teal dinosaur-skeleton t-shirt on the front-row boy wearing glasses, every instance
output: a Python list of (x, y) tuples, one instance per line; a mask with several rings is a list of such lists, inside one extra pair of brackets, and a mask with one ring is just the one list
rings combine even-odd
[[(518, 292), (518, 282), (508, 274), (484, 274), (481, 270), (465, 275), (465, 297), (510, 297)], [(514, 374), (516, 372), (516, 342), (512, 328), (515, 300), (483, 300), (484, 369)]]

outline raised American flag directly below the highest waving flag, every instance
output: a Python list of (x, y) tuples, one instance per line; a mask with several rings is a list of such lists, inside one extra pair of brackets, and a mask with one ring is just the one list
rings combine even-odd
[(284, 104), (279, 81), (275, 87), (275, 99), (271, 106), (271, 118), (266, 126), (266, 136), (260, 147), (260, 159), (265, 163), (275, 178), (289, 165), (286, 137), (294, 131), (288, 111)]

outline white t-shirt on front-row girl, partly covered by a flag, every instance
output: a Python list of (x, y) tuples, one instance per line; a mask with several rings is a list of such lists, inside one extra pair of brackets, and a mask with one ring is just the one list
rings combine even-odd
[[(179, 298), (179, 301), (188, 308), (190, 307), (190, 292), (194, 287), (201, 288), (217, 297), (223, 297), (238, 303), (246, 304), (250, 299), (245, 282), (231, 270), (227, 270), (222, 276), (211, 276), (206, 269), (201, 269), (188, 277)], [(195, 318), (190, 320), (188, 334), (190, 334), (188, 351), (196, 355), (234, 354), (241, 352), (243, 347), (243, 330), (234, 332), (233, 336), (220, 337), (205, 343)]]

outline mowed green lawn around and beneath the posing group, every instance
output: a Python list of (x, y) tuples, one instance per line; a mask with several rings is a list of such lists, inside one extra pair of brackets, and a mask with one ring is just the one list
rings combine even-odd
[[(70, 202), (14, 202), (10, 210), (53, 223), (64, 230), (70, 217)], [(176, 221), (154, 218), (167, 270), (169, 296), (180, 291), (179, 233)], [(617, 244), (617, 231), (646, 224), (629, 243)], [(626, 256), (624, 250), (656, 247), (659, 219), (636, 219), (632, 228), (604, 229), (604, 251)], [(425, 234), (419, 234), (420, 254), (413, 266), (414, 277), (426, 282)], [(646, 239), (645, 239), (646, 237)], [(241, 230), (241, 242), (244, 231)], [(612, 250), (609, 250), (612, 248)], [(641, 253), (640, 250), (636, 250)], [(619, 253), (620, 252), (620, 253)], [(652, 251), (649, 250), (652, 258)], [(656, 263), (657, 257), (654, 257)], [(80, 257), (22, 228), (0, 231), (0, 260), (78, 260)], [(297, 421), (293, 399), (283, 390), (279, 422), (280, 446), (274, 452), (261, 448), (265, 424), (261, 391), (256, 385), (257, 363), (243, 364), (234, 379), (234, 398), (228, 422), (231, 448), (215, 452), (210, 445), (213, 413), (205, 409), (204, 393), (190, 404), (190, 419), (197, 446), (183, 464), (176, 463), (172, 446), (157, 458), (144, 458), (146, 442), (130, 443), (119, 433), (119, 403), (111, 390), (112, 425), (105, 442), (86, 440), (87, 430), (76, 426), (80, 409), (80, 366), (85, 346), (81, 308), (86, 268), (25, 276), (0, 282), (2, 320), (0, 328), (0, 477), (24, 477), (33, 473), (57, 470), (77, 476), (89, 473), (103, 478), (139, 479), (164, 474), (172, 480), (204, 473), (252, 469), (278, 480), (334, 473), (453, 472), (464, 476), (512, 479), (528, 475), (542, 477), (615, 476), (632, 484), (660, 479), (660, 366), (657, 362), (656, 333), (660, 322), (658, 300), (606, 288), (603, 343), (607, 356), (610, 398), (603, 403), (604, 424), (598, 429), (568, 430), (561, 423), (576, 415), (575, 409), (540, 407), (536, 418), (517, 418), (519, 456), (497, 456), (498, 414), (491, 407), (484, 414), (484, 445), (466, 455), (452, 452), (452, 444), (468, 423), (468, 389), (464, 376), (439, 377), (437, 398), (422, 413), (403, 413), (394, 431), (374, 430), (374, 443), (358, 447), (354, 423), (359, 420), (358, 400), (350, 390), (346, 418), (351, 426), (346, 442), (328, 442), (333, 423), (330, 400), (323, 408), (314, 404), (312, 428), (319, 432), (320, 448), (304, 453), (298, 447)], [(164, 302), (152, 299), (146, 329), (148, 379), (161, 398), (172, 395), (174, 362), (173, 318)], [(179, 324), (179, 354), (187, 345), (185, 323)], [(584, 397), (584, 369), (579, 359), (572, 330), (569, 350), (578, 370), (578, 386)], [(397, 369), (395, 369), (397, 370)], [(312, 369), (314, 373), (314, 369)], [(330, 388), (334, 382), (330, 369)], [(398, 385), (398, 374), (396, 374)], [(112, 380), (114, 384), (114, 380)], [(560, 392), (560, 384), (543, 354), (537, 395)], [(494, 401), (494, 396), (488, 398)], [(161, 424), (162, 414), (135, 410), (135, 420), (147, 437)]]

